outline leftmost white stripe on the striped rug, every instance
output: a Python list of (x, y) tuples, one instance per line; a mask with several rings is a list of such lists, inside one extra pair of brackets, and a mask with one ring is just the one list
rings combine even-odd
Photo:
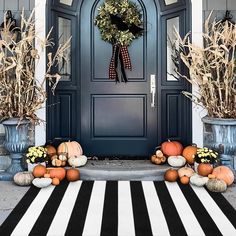
[(29, 234), (54, 188), (55, 186), (51, 185), (39, 191), (38, 195), (13, 230), (12, 236), (25, 236)]

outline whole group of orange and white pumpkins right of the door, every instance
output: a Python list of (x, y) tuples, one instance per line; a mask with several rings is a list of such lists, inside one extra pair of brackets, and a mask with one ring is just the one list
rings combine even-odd
[(155, 155), (151, 156), (151, 162), (162, 164), (165, 163), (166, 159), (168, 164), (172, 166), (164, 174), (166, 181), (175, 182), (179, 180), (182, 184), (191, 183), (198, 187), (206, 185), (212, 192), (226, 191), (227, 186), (234, 182), (232, 170), (227, 166), (213, 168), (209, 163), (200, 163), (194, 171), (192, 166), (196, 154), (196, 146), (183, 148), (180, 142), (168, 140), (161, 144), (160, 150), (157, 150)]

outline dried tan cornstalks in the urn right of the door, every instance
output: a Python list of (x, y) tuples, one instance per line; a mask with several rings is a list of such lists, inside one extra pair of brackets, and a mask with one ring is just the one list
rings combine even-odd
[(191, 43), (190, 34), (181, 38), (176, 31), (173, 58), (177, 56), (189, 70), (185, 78), (198, 86), (196, 93), (183, 92), (208, 116), (236, 118), (236, 25), (230, 21), (213, 20), (211, 14), (204, 24), (203, 47)]

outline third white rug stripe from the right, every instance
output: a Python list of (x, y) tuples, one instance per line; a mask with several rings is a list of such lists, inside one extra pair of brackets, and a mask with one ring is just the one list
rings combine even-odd
[(170, 235), (154, 183), (142, 181), (142, 186), (153, 235)]

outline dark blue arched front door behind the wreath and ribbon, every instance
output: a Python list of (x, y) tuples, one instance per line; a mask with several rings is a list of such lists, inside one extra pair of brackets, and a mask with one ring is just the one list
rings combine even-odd
[(101, 40), (93, 24), (103, 1), (86, 0), (81, 8), (81, 144), (87, 155), (147, 156), (157, 145), (157, 108), (150, 106), (149, 81), (150, 74), (157, 73), (153, 40), (157, 13), (153, 0), (134, 2), (142, 9), (145, 24), (151, 22), (152, 30), (128, 48), (132, 61), (128, 83), (108, 78), (112, 45)]

